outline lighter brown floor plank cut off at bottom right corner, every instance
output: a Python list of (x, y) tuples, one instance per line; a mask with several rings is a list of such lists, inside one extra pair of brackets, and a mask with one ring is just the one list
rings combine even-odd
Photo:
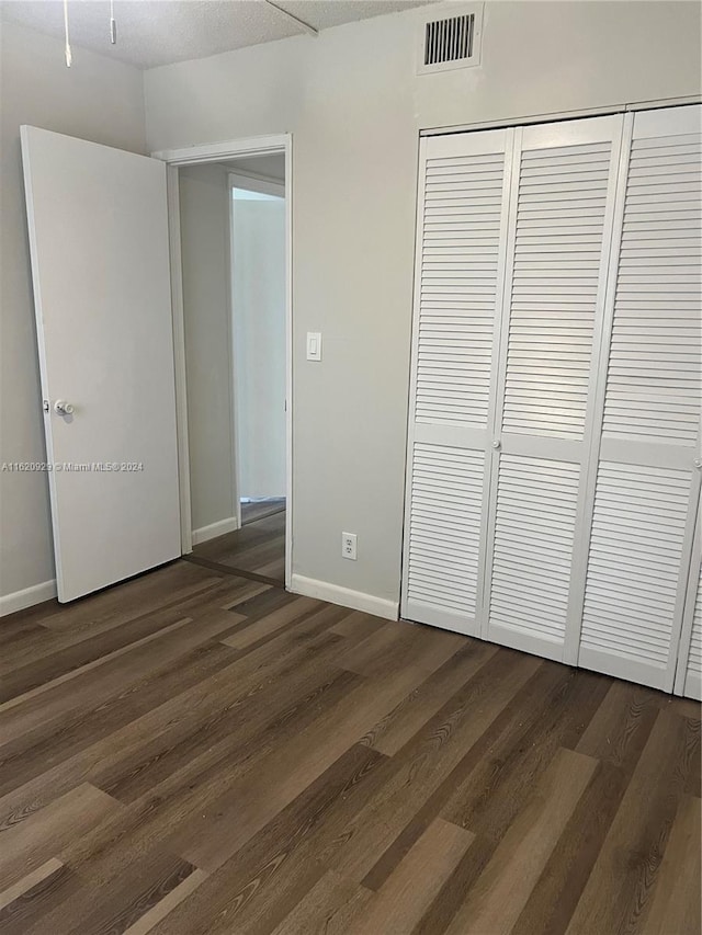
[(666, 845), (643, 935), (698, 935), (701, 931), (700, 821), (700, 799), (684, 796)]

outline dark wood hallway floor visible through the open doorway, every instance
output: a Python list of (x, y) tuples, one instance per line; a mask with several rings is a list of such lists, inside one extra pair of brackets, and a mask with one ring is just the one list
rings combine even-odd
[[(246, 508), (246, 509), (245, 509)], [(194, 547), (191, 560), (216, 570), (259, 575), (271, 584), (285, 582), (285, 501), (242, 504), (242, 526)]]

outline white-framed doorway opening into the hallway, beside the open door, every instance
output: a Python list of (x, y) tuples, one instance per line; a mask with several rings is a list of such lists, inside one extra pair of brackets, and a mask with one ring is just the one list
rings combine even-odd
[(182, 551), (285, 586), (290, 139), (156, 155), (169, 162)]

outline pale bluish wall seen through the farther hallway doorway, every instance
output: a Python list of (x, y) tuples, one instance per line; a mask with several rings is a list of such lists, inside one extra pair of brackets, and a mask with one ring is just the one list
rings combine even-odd
[(233, 261), (239, 497), (284, 497), (283, 198), (234, 202)]

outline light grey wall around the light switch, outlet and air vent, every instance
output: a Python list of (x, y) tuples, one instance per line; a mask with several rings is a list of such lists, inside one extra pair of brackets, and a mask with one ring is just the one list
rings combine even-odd
[[(417, 15), (145, 77), (152, 150), (293, 134), (294, 572), (390, 601), (418, 129), (700, 93), (692, 2), (488, 2), (483, 66), (422, 78)], [(321, 364), (305, 361), (308, 330), (324, 332)], [(341, 558), (342, 529), (358, 533), (356, 562)]]

